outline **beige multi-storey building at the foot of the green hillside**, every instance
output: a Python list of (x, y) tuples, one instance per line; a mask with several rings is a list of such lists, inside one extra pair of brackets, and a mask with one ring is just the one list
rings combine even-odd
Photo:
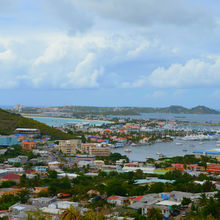
[(59, 150), (68, 156), (73, 156), (77, 151), (81, 151), (81, 140), (72, 139), (72, 140), (60, 140), (59, 141)]

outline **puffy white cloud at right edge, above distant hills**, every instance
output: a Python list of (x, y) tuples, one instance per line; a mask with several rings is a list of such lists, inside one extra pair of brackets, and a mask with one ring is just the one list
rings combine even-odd
[(220, 57), (202, 61), (191, 59), (182, 64), (159, 67), (149, 76), (149, 82), (159, 88), (193, 88), (220, 86)]

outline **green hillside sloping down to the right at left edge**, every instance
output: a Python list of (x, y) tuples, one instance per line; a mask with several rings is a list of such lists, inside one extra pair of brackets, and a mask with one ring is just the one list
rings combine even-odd
[(12, 134), (16, 128), (38, 128), (43, 135), (50, 135), (52, 139), (71, 139), (72, 135), (66, 134), (56, 128), (50, 127), (19, 114), (10, 113), (0, 109), (0, 134)]

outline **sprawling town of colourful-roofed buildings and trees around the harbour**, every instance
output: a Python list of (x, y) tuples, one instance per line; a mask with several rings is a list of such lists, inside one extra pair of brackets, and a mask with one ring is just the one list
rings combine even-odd
[(175, 124), (121, 119), (60, 127), (68, 139), (31, 127), (1, 135), (1, 219), (218, 219), (219, 151), (145, 161), (111, 152), (208, 136)]

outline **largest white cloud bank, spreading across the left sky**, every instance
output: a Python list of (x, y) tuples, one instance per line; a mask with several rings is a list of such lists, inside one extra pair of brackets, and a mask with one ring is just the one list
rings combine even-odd
[[(0, 42), (5, 42), (5, 38), (0, 38)], [(132, 56), (128, 58), (127, 54), (140, 51), (140, 45), (145, 47), (148, 45), (146, 42), (143, 38), (137, 42), (130, 35), (108, 36), (100, 33), (77, 36), (51, 33), (45, 36), (41, 34), (38, 38), (34, 34), (28, 35), (27, 40), (20, 36), (16, 41), (7, 37), (4, 52), (0, 53), (0, 61), (7, 58), (8, 64), (0, 66), (0, 73), (7, 75), (8, 82), (15, 82), (10, 87), (97, 88), (101, 78), (102, 84), (108, 78), (103, 76), (108, 74), (104, 71), (106, 66), (131, 60)], [(147, 51), (144, 48), (136, 56), (143, 56)], [(16, 59), (10, 59), (12, 55)], [(127, 83), (127, 86), (141, 87), (145, 81), (144, 77), (140, 77), (135, 82)], [(115, 81), (111, 78), (111, 82), (106, 84), (114, 86)]]

